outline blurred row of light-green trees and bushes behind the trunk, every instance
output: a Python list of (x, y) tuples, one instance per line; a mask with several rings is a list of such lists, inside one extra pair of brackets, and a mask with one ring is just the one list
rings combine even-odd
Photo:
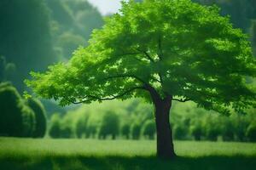
[[(82, 105), (49, 122), (52, 138), (154, 139), (152, 106), (141, 99)], [(121, 106), (120, 106), (121, 105)], [(172, 109), (174, 139), (211, 141), (256, 141), (255, 111), (247, 115), (221, 116), (198, 109), (192, 102)]]

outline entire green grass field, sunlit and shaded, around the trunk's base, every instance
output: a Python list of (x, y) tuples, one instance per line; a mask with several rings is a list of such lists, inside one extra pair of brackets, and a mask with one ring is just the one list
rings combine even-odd
[(160, 160), (155, 142), (0, 138), (0, 169), (213, 170), (256, 167), (256, 144), (175, 142), (178, 157)]

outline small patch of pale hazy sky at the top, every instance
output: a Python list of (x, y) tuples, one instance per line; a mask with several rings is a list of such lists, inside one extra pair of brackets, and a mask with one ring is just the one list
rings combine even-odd
[(116, 13), (120, 8), (121, 0), (88, 0), (96, 8), (100, 10), (102, 14)]

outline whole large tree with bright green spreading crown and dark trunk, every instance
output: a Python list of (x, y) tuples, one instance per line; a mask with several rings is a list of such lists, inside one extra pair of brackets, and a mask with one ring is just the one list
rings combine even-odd
[(190, 0), (122, 4), (89, 46), (67, 64), (32, 73), (27, 85), (61, 105), (132, 97), (152, 102), (160, 157), (175, 156), (172, 101), (191, 100), (224, 115), (255, 106), (245, 81), (256, 73), (252, 48), (219, 8)]

